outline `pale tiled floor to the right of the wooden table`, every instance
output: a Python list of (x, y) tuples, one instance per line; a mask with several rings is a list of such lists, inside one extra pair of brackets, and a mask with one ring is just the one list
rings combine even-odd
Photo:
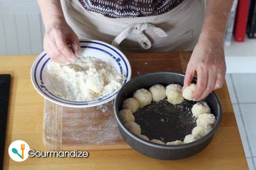
[(226, 74), (249, 170), (256, 170), (256, 74)]

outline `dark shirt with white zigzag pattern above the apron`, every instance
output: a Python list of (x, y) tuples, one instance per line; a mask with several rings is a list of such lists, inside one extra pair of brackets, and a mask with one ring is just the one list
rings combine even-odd
[(79, 0), (85, 9), (108, 18), (156, 16), (174, 9), (185, 0)]

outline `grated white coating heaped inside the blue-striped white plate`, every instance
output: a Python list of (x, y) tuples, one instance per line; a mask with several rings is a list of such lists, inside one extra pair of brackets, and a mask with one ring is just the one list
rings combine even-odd
[(75, 63), (47, 65), (53, 94), (71, 101), (90, 101), (121, 87), (126, 75), (94, 57), (78, 57)]

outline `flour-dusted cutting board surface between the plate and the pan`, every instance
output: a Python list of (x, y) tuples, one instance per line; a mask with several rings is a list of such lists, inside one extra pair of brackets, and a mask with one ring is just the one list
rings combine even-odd
[(93, 145), (122, 141), (114, 116), (113, 101), (96, 107), (67, 108), (62, 116), (62, 139), (65, 141)]

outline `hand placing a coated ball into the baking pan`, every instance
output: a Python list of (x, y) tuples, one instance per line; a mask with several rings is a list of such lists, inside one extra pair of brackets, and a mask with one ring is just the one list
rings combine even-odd
[(203, 100), (213, 90), (223, 86), (226, 63), (222, 40), (218, 40), (216, 36), (199, 38), (187, 64), (183, 89), (191, 84), (195, 72), (197, 72), (197, 85), (192, 94), (194, 101)]

